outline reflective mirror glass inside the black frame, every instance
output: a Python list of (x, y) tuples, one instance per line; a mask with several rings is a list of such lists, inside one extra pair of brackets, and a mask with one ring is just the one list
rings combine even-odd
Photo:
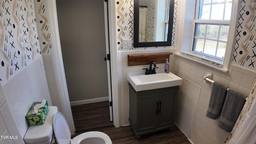
[(169, 0), (139, 0), (139, 42), (167, 41)]

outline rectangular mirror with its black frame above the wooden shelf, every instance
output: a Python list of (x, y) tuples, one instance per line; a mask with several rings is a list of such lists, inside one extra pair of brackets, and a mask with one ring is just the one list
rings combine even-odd
[(134, 0), (134, 48), (171, 46), (174, 0)]

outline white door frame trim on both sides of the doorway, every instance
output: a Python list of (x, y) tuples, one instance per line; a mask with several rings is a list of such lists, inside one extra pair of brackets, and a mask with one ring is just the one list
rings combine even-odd
[[(48, 0), (50, 12), (50, 25), (52, 28), (52, 45), (54, 46), (54, 54), (52, 55), (54, 73), (56, 77), (56, 84), (58, 88), (60, 104), (62, 106), (63, 114), (69, 124), (71, 134), (75, 132), (74, 120), (72, 116), (70, 100), (68, 96), (68, 88), (66, 85), (66, 77), (62, 59), (62, 51), (60, 45), (60, 35), (58, 28), (58, 17), (56, 0)], [(122, 96), (122, 63), (121, 53), (117, 52), (116, 48), (116, 8), (115, 0), (108, 0), (109, 13), (109, 46), (110, 46), (110, 65), (111, 65), (111, 85), (112, 85), (112, 103), (113, 103), (113, 124), (116, 128), (120, 127), (120, 99)]]

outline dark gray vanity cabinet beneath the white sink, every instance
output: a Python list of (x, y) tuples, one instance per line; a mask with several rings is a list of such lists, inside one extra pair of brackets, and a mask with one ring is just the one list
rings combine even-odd
[(136, 138), (173, 128), (179, 86), (136, 92), (129, 84), (129, 122)]

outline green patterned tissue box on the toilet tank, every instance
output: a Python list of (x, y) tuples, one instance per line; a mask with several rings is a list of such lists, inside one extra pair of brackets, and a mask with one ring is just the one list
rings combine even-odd
[(40, 108), (36, 114), (31, 114), (32, 107), (41, 102), (33, 102), (32, 106), (28, 110), (25, 118), (29, 126), (44, 124), (44, 120), (49, 112), (48, 102), (46, 100), (46, 108)]

